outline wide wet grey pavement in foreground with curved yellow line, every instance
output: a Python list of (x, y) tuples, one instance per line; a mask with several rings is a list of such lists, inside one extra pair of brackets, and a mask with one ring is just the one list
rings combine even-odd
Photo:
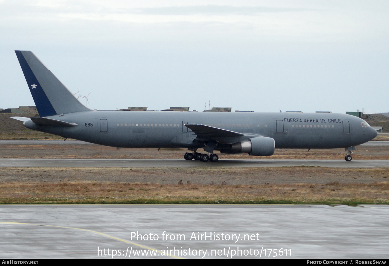
[(2, 205), (0, 256), (377, 259), (388, 219), (387, 205)]

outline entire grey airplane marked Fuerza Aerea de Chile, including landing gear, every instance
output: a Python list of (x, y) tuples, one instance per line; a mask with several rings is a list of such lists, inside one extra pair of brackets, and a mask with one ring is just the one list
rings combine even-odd
[(214, 151), (270, 156), (275, 148), (345, 148), (351, 161), (354, 146), (377, 136), (361, 118), (338, 113), (95, 111), (31, 51), (15, 52), (39, 117), (12, 118), (64, 138), (123, 148), (187, 148), (186, 160), (216, 162)]

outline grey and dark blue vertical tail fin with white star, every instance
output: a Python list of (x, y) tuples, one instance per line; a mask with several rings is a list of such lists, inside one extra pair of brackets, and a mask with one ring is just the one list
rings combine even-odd
[(40, 116), (93, 111), (70, 92), (31, 51), (15, 51)]

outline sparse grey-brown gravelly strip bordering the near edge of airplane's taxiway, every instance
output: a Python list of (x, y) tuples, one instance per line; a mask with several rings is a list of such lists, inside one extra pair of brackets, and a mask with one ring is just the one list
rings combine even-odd
[(389, 181), (385, 168), (329, 167), (0, 167), (2, 182), (74, 181), (159, 184), (373, 183)]

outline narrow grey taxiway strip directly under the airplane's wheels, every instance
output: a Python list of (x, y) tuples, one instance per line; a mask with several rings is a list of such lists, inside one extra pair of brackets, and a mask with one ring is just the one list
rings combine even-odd
[(0, 159), (0, 167), (388, 167), (389, 160)]

